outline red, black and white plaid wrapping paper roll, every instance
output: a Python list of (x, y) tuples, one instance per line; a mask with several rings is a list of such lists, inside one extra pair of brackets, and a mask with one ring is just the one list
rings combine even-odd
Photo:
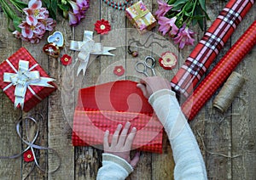
[(224, 47), (236, 26), (241, 22), (254, 0), (230, 0), (220, 12), (218, 18), (190, 53), (183, 66), (172, 78), (172, 90), (186, 98), (193, 92), (212, 61)]

